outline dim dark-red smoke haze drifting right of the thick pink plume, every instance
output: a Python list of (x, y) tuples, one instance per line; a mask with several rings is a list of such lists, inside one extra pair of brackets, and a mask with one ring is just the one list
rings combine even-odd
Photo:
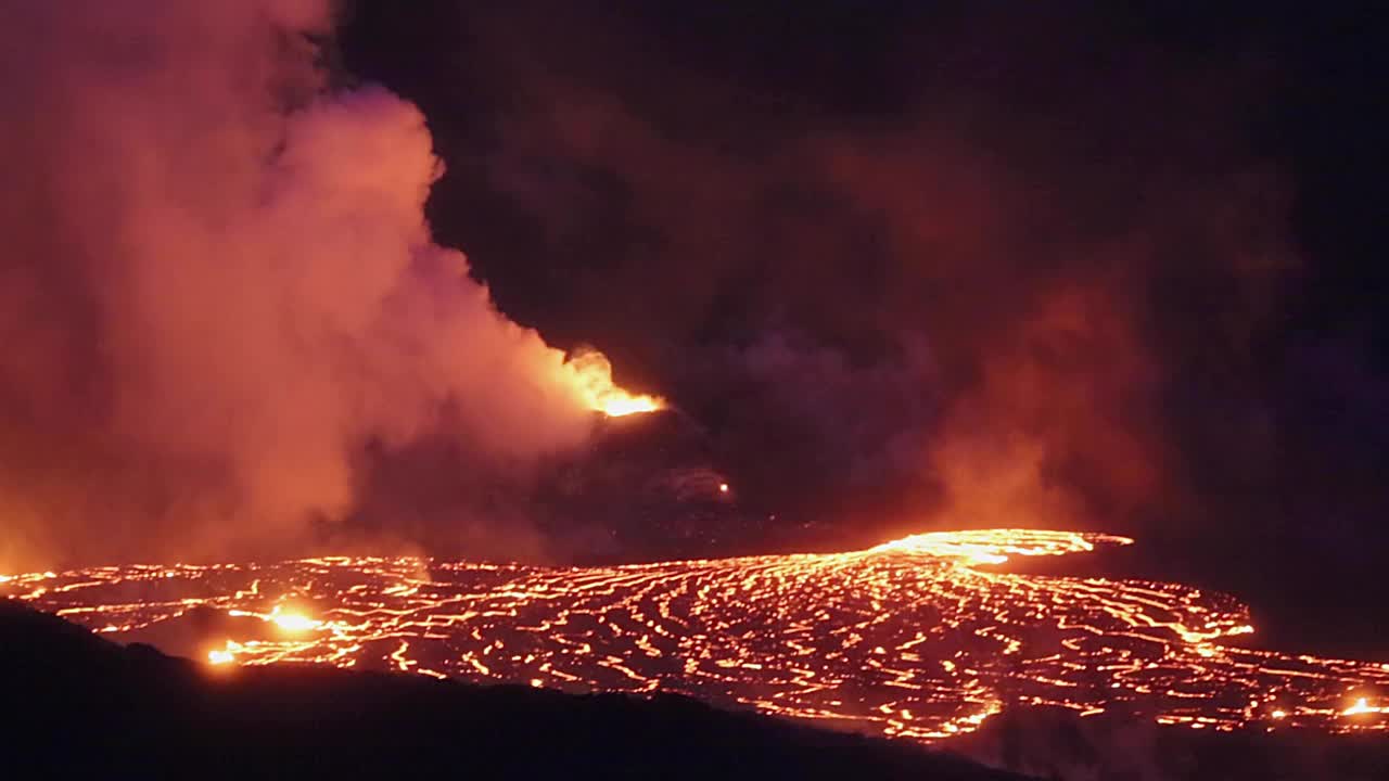
[(1242, 360), (1293, 267), (1242, 125), (1261, 64), (1063, 14), (903, 11), (833, 50), (868, 22), (760, 8), (457, 11), (449, 88), (400, 79), (485, 176), (442, 182), (440, 231), (507, 311), (674, 389), (788, 517), (1143, 525), (1186, 484), (1171, 396)]

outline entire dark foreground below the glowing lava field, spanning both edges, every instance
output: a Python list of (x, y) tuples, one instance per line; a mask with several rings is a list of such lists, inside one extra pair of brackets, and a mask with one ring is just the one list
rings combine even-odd
[[(0, 602), (0, 778), (1024, 778), (681, 696), (215, 668)], [(1383, 781), (1389, 741), (1008, 709), (950, 750), (1061, 781)]]

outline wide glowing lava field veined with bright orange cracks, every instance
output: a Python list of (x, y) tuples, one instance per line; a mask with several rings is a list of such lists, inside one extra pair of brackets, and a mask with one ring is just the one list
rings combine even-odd
[(0, 593), (118, 641), (158, 636), (197, 609), (258, 630), (201, 638), (213, 664), (679, 692), (924, 742), (1015, 703), (1213, 730), (1389, 730), (1389, 664), (1225, 645), (1253, 631), (1228, 596), (979, 567), (1129, 542), (989, 529), (593, 568), (413, 557), (97, 567), (0, 578)]

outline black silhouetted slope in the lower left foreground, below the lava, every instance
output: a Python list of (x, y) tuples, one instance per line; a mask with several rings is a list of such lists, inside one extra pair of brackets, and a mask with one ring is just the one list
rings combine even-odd
[(0, 603), (0, 691), (13, 778), (1020, 778), (676, 696), (208, 670), (14, 603)]

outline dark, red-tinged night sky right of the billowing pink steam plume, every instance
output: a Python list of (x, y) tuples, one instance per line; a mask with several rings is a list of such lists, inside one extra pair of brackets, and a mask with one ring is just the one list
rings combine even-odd
[(749, 504), (1128, 532), (1383, 636), (1374, 4), (1111, 6), (358, 1), (331, 60), (422, 108), (503, 311)]

